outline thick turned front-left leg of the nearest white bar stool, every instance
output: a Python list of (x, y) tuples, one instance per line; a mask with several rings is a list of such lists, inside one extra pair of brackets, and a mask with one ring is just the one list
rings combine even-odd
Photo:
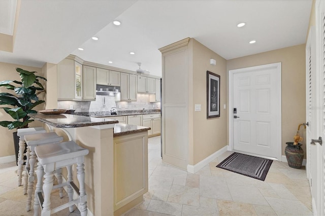
[(53, 188), (53, 171), (47, 171), (44, 174), (44, 184), (43, 184), (43, 193), (44, 193), (44, 202), (42, 209), (42, 216), (47, 216), (51, 214), (51, 191)]

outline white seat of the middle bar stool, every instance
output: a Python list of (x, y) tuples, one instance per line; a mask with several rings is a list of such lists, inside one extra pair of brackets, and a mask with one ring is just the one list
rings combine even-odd
[(55, 132), (25, 135), (27, 146), (30, 147), (61, 142), (62, 140), (63, 137), (58, 136)]

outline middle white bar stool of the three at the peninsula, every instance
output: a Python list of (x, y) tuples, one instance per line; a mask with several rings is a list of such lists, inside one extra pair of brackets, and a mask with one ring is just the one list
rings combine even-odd
[[(37, 133), (25, 135), (25, 141), (27, 144), (27, 161), (25, 166), (25, 175), (24, 175), (24, 194), (27, 192), (27, 205), (26, 210), (29, 211), (31, 207), (31, 195), (34, 190), (34, 166), (37, 160), (35, 154), (35, 147), (42, 145), (57, 145), (58, 142), (63, 140), (62, 136), (58, 136), (55, 132), (50, 133)], [(29, 166), (27, 166), (27, 164)], [(58, 184), (62, 183), (62, 175), (60, 172), (57, 175)], [(28, 187), (27, 187), (28, 186)], [(59, 195), (63, 197), (63, 188), (60, 188)]]

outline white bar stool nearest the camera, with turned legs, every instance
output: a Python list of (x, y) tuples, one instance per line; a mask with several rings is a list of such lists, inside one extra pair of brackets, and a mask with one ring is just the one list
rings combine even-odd
[[(34, 215), (38, 215), (39, 207), (41, 206), (42, 215), (50, 215), (64, 208), (69, 207), (70, 212), (73, 212), (73, 205), (80, 203), (80, 214), (87, 215), (87, 195), (85, 191), (85, 170), (84, 156), (89, 153), (88, 149), (81, 148), (74, 141), (61, 142), (58, 145), (45, 145), (35, 147), (35, 153), (38, 157), (37, 185), (35, 190), (34, 200)], [(77, 178), (80, 189), (72, 181), (72, 165), (77, 164)], [(53, 171), (61, 167), (67, 167), (68, 176), (67, 182), (53, 187)], [(44, 174), (45, 173), (45, 174)], [(44, 174), (44, 185), (42, 195), (42, 178)], [(50, 194), (52, 189), (67, 186), (69, 202), (51, 209)], [(73, 190), (79, 195), (77, 199), (73, 199)]]

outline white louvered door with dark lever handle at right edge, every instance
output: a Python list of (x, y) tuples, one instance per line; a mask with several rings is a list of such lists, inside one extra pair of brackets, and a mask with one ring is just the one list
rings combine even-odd
[(314, 215), (325, 214), (325, 3), (316, 1), (316, 29), (306, 44), (307, 177)]

